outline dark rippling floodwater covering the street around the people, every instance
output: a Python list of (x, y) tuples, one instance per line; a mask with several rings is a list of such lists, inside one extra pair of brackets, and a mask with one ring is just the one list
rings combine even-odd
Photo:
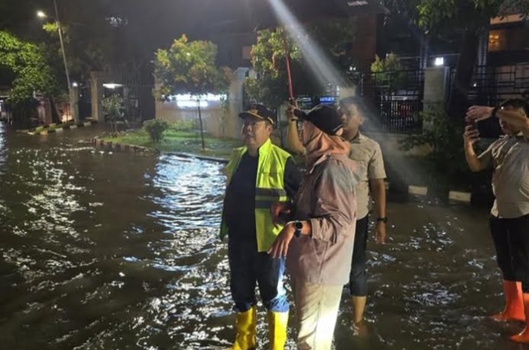
[[(229, 346), (222, 165), (81, 142), (96, 134), (1, 130), (0, 349)], [(503, 304), (486, 210), (388, 216), (389, 243), (369, 243), (370, 335), (351, 336), (344, 290), (336, 349), (522, 349), (507, 340), (521, 325), (486, 318)]]

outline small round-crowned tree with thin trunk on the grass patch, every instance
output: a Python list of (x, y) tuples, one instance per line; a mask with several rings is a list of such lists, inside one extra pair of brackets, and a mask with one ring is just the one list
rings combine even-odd
[(207, 93), (227, 93), (231, 71), (217, 67), (217, 46), (209, 41), (188, 41), (185, 35), (175, 39), (168, 50), (156, 52), (154, 75), (160, 88), (157, 97), (189, 94), (196, 98), (202, 149), (205, 149), (200, 99)]

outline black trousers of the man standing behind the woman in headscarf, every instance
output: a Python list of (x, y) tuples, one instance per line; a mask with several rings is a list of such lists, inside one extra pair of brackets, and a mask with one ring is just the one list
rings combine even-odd
[(351, 295), (355, 297), (365, 297), (367, 295), (366, 247), (368, 223), (368, 215), (357, 220), (355, 231), (355, 247), (352, 250), (351, 272), (349, 275), (349, 289)]

